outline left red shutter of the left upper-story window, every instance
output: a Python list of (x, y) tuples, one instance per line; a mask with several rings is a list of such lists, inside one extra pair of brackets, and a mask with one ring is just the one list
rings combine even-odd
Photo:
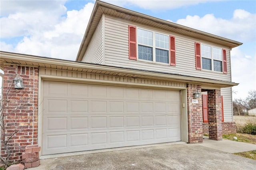
[(137, 59), (136, 26), (128, 26), (129, 34), (129, 59)]

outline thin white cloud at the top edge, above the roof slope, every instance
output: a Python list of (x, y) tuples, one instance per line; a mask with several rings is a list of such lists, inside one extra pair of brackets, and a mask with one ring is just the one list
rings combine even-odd
[(142, 9), (162, 11), (204, 3), (206, 0), (104, 0), (117, 6), (138, 6)]

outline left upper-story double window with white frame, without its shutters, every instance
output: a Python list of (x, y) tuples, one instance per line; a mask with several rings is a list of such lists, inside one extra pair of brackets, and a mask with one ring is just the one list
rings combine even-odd
[(138, 28), (138, 59), (169, 63), (169, 37)]

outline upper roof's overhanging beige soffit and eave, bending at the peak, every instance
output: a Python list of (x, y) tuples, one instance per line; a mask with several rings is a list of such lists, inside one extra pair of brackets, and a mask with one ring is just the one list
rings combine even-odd
[(195, 39), (204, 40), (204, 41), (212, 42), (212, 43), (217, 43), (217, 44), (223, 45), (225, 47), (234, 48), (239, 45), (242, 45), (242, 43), (234, 41), (234, 40), (229, 40), (227, 38), (223, 38), (223, 37), (209, 34), (206, 32), (202, 32), (199, 30), (195, 30), (195, 29), (192, 29), (192, 28), (189, 28), (186, 26), (168, 22), (166, 20), (161, 20), (159, 18), (141, 14), (139, 12), (134, 12), (132, 10), (121, 8), (119, 6), (114, 6), (114, 5), (108, 4), (106, 2), (96, 1), (94, 9), (92, 11), (91, 18), (90, 18), (88, 26), (86, 28), (86, 32), (84, 34), (84, 38), (82, 40), (80, 49), (79, 49), (77, 57), (76, 57), (77, 61), (82, 60), (82, 57), (84, 56), (84, 53), (85, 53), (87, 46), (92, 38), (92, 35), (94, 34), (96, 27), (98, 26), (98, 23), (102, 17), (102, 14), (107, 14), (110, 16), (122, 18), (122, 19), (125, 19), (128, 21), (131, 21), (131, 22), (145, 24), (147, 26), (152, 26), (155, 28), (160, 28), (163, 30), (177, 33), (177, 34), (182, 34), (184, 36), (189, 36), (189, 37), (192, 37)]

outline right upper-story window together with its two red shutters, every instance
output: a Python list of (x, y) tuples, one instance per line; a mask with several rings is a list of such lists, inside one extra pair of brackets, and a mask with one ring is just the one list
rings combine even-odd
[(227, 57), (225, 49), (197, 42), (195, 43), (195, 48), (196, 69), (213, 70), (227, 74)]

